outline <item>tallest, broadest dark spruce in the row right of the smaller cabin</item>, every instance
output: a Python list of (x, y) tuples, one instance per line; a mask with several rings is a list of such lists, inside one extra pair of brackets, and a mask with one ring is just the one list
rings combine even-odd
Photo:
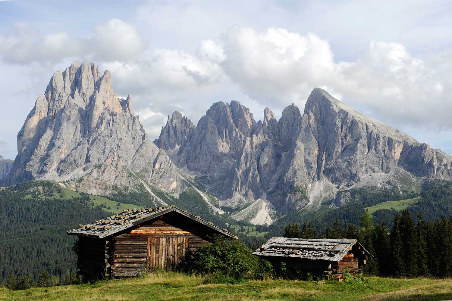
[(418, 274), (417, 233), (413, 218), (408, 210), (402, 211), (400, 235), (403, 237), (403, 262), (406, 277), (414, 278)]

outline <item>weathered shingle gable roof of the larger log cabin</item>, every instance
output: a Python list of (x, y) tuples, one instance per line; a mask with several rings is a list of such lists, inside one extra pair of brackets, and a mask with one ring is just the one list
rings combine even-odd
[(103, 238), (108, 235), (112, 235), (114, 233), (125, 230), (129, 227), (136, 226), (142, 222), (146, 222), (157, 216), (170, 213), (173, 211), (182, 214), (188, 218), (191, 218), (196, 222), (199, 222), (207, 227), (211, 227), (212, 229), (216, 230), (217, 232), (221, 232), (226, 236), (233, 237), (235, 239), (238, 238), (237, 236), (227, 231), (226, 229), (217, 227), (212, 222), (207, 222), (200, 217), (196, 217), (193, 214), (187, 213), (184, 210), (174, 206), (165, 206), (158, 208), (124, 209), (122, 213), (109, 216), (102, 220), (94, 221), (87, 225), (80, 224), (78, 228), (72, 229), (66, 233), (69, 235)]

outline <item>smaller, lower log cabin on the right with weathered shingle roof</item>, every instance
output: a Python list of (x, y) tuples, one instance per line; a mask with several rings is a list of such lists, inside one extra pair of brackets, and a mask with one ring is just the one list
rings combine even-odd
[(356, 239), (305, 239), (272, 237), (254, 255), (273, 264), (277, 273), (281, 263), (289, 271), (311, 272), (341, 279), (347, 271), (357, 274), (363, 269), (369, 254)]

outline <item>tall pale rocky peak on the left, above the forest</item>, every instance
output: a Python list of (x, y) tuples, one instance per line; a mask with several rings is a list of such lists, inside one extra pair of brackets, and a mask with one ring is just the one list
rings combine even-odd
[(101, 76), (93, 63), (75, 61), (52, 76), (17, 140), (18, 155), (6, 185), (77, 179), (72, 185), (98, 194), (113, 185), (184, 187), (177, 167), (148, 139), (131, 97), (118, 98), (110, 72)]

